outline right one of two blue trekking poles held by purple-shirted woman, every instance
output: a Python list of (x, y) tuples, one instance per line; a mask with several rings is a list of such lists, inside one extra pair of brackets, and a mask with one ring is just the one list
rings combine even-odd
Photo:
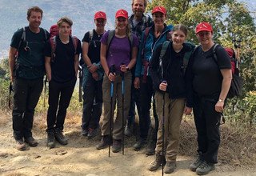
[[(121, 63), (123, 65), (124, 63)], [(124, 90), (125, 90), (125, 73), (122, 72), (122, 155), (125, 154), (125, 113), (124, 113)]]

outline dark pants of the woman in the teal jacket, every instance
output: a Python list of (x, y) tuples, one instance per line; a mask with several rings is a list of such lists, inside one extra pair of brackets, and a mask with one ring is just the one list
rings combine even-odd
[[(139, 129), (140, 138), (147, 138), (147, 134), (150, 128), (150, 108), (152, 98), (154, 96), (153, 82), (152, 79), (147, 76), (146, 82), (142, 82), (142, 77), (140, 78), (140, 114), (139, 114)], [(153, 101), (154, 102), (154, 101)], [(155, 105), (153, 106), (154, 122), (155, 122), (155, 132), (153, 138), (157, 139), (158, 133), (158, 116), (156, 114)]]

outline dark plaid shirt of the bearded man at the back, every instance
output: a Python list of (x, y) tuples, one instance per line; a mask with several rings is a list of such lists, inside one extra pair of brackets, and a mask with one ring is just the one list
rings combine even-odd
[(142, 20), (140, 22), (138, 22), (138, 24), (135, 26), (134, 25), (134, 14), (132, 14), (129, 17), (129, 24), (130, 24), (130, 29), (132, 30), (132, 33), (138, 37), (138, 42), (141, 43), (142, 31), (145, 30), (146, 27), (152, 26), (153, 21), (149, 15), (143, 14)]

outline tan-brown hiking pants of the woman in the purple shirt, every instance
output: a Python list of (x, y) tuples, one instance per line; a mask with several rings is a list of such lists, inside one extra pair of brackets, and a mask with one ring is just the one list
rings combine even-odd
[[(114, 80), (114, 94), (112, 102), (112, 113), (114, 114), (116, 101), (117, 102), (117, 116), (115, 120), (111, 117), (110, 112), (110, 86), (111, 82), (106, 74), (103, 77), (102, 82), (102, 94), (103, 94), (103, 117), (102, 117), (102, 136), (110, 134), (110, 119), (112, 120), (113, 138), (115, 140), (122, 139), (122, 76), (116, 75)], [(131, 73), (130, 71), (124, 75), (124, 124), (126, 124), (126, 117), (130, 109), (130, 86), (131, 86)]]

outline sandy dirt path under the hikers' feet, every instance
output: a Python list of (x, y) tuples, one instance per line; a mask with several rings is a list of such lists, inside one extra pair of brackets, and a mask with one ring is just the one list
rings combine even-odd
[[(125, 155), (111, 152), (108, 149), (96, 150), (99, 137), (88, 140), (80, 135), (79, 127), (67, 129), (69, 138), (67, 146), (57, 145), (54, 149), (46, 148), (46, 134), (35, 131), (39, 145), (30, 150), (18, 151), (14, 148), (11, 122), (0, 126), (0, 174), (9, 176), (22, 175), (162, 175), (162, 170), (150, 172), (146, 167), (154, 156), (146, 157), (145, 151), (135, 152), (132, 149), (134, 138), (126, 138)], [(171, 175), (196, 175), (188, 167), (193, 158), (178, 156), (177, 170)], [(168, 174), (165, 174), (168, 175)], [(256, 170), (237, 170), (232, 166), (218, 164), (216, 170), (208, 175), (255, 175)]]

